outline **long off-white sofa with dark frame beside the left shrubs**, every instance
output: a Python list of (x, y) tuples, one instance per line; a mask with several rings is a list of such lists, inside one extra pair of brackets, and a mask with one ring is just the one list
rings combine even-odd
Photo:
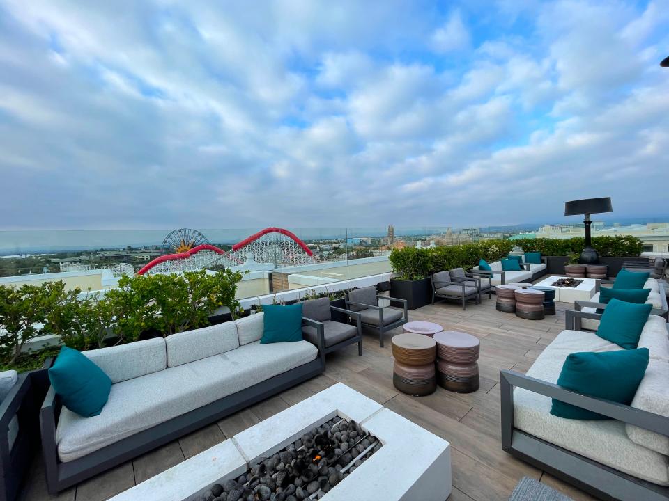
[(311, 342), (260, 344), (262, 335), (258, 313), (164, 339), (85, 351), (112, 379), (112, 390), (100, 415), (82, 417), (60, 406), (49, 389), (40, 413), (49, 491), (323, 372), (323, 350)]

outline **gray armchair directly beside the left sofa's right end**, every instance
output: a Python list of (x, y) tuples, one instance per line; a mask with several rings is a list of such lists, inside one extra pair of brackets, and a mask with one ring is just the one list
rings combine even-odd
[[(351, 315), (355, 325), (332, 320), (332, 310)], [(330, 299), (309, 299), (302, 303), (302, 334), (323, 353), (344, 348), (357, 342), (357, 354), (362, 356), (362, 324), (360, 313), (330, 304)]]

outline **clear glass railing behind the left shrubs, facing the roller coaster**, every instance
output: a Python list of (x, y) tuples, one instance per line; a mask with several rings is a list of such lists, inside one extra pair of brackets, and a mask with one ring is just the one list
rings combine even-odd
[(389, 276), (392, 248), (480, 237), (477, 230), (420, 226), (0, 231), (0, 283), (63, 280), (69, 288), (101, 290), (116, 287), (123, 274), (227, 267), (245, 272), (238, 299), (322, 292)]

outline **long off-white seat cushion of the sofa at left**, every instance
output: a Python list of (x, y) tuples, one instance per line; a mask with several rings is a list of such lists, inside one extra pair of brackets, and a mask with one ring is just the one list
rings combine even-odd
[(61, 461), (102, 449), (196, 408), (266, 381), (318, 356), (307, 341), (252, 342), (191, 363), (112, 385), (100, 415), (63, 408), (56, 429)]

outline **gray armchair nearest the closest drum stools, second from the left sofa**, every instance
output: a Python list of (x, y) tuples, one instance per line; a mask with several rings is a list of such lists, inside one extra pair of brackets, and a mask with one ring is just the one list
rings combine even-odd
[[(383, 308), (378, 305), (379, 299), (390, 299), (403, 303), (404, 310)], [(378, 331), (379, 346), (383, 347), (383, 334), (387, 331), (406, 324), (408, 321), (406, 299), (378, 296), (376, 287), (363, 287), (346, 294), (346, 307), (360, 314), (362, 325)]]

